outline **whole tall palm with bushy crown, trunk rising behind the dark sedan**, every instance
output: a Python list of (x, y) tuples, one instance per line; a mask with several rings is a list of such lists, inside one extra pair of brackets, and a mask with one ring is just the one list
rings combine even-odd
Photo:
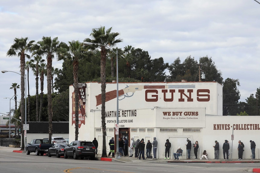
[(49, 117), (49, 143), (51, 143), (52, 137), (52, 59), (55, 54), (58, 53), (60, 45), (58, 37), (51, 39), (51, 37), (43, 36), (41, 41), (38, 41), (36, 45), (33, 45), (33, 55), (46, 55), (47, 58), (47, 95), (48, 95), (48, 117)]

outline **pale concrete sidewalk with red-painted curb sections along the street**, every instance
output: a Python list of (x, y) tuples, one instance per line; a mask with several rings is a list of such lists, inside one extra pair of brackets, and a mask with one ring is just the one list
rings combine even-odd
[[(21, 148), (12, 148), (12, 147), (1, 147), (0, 146), (0, 152), (15, 152), (15, 153), (25, 153), (25, 151), (22, 151)], [(96, 160), (100, 161), (108, 161), (108, 162), (126, 162), (126, 163), (138, 163), (138, 162), (168, 162), (168, 163), (260, 163), (260, 159), (243, 159), (243, 160), (237, 160), (237, 159), (180, 159), (180, 160), (174, 160), (174, 159), (140, 159), (135, 157), (120, 157), (120, 159), (116, 159), (115, 157), (107, 157), (107, 158), (101, 158), (101, 154), (96, 155)], [(252, 168), (252, 172), (259, 172), (260, 168)]]

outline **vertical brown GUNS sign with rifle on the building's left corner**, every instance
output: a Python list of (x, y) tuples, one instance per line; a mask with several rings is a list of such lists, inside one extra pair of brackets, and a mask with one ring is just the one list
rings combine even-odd
[[(86, 117), (86, 87), (85, 83), (78, 84), (78, 128), (81, 127), (81, 124), (85, 124)], [(76, 124), (75, 117), (75, 92), (72, 93), (72, 125)]]

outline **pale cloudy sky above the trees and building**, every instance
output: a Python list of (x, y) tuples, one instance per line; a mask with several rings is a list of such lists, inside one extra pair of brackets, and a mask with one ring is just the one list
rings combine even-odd
[[(123, 42), (117, 45), (119, 48), (141, 48), (151, 59), (163, 57), (172, 63), (189, 55), (195, 60), (212, 57), (224, 79), (239, 79), (240, 101), (255, 94), (260, 86), (260, 4), (254, 0), (0, 2), (0, 70), (20, 73), (20, 58), (6, 56), (15, 38), (40, 41), (43, 36), (51, 36), (66, 43), (82, 42), (90, 38), (92, 28), (105, 26), (120, 32)], [(60, 69), (62, 62), (54, 59), (53, 66)], [(20, 77), (0, 73), (0, 113), (9, 112), (10, 100), (3, 98), (14, 95), (9, 88), (12, 83), (20, 85)], [(29, 80), (30, 95), (35, 95), (31, 72)], [(21, 99), (20, 89), (17, 94)]]

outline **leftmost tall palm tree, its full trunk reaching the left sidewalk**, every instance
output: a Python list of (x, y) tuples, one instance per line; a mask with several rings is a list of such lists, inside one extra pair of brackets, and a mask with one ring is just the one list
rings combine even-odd
[[(30, 58), (27, 51), (30, 51), (31, 46), (33, 45), (34, 40), (28, 41), (28, 37), (25, 38), (15, 38), (14, 44), (11, 45), (11, 48), (7, 51), (7, 56), (20, 56), (20, 66), (21, 66), (21, 123), (24, 124), (25, 120), (25, 103), (24, 103), (24, 69), (25, 69), (25, 57)], [(24, 150), (24, 128), (22, 126), (22, 147), (21, 150)]]

